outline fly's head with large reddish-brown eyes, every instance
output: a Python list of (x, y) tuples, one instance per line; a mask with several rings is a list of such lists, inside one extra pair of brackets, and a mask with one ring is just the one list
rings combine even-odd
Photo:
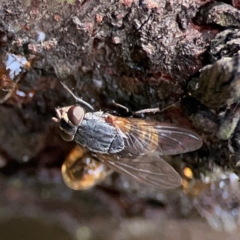
[(59, 124), (61, 137), (65, 141), (72, 141), (78, 126), (82, 123), (85, 111), (79, 105), (56, 108), (57, 117), (53, 121)]

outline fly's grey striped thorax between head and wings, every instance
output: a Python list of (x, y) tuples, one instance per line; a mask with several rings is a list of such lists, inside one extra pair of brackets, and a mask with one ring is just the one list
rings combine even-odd
[(124, 148), (123, 138), (103, 116), (87, 113), (75, 134), (75, 141), (97, 153), (117, 153)]

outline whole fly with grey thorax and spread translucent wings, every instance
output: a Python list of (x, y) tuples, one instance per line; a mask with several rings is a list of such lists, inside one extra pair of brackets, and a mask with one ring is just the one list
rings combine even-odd
[(76, 100), (76, 105), (57, 108), (53, 118), (64, 140), (74, 140), (95, 159), (138, 182), (165, 189), (181, 185), (179, 174), (161, 156), (200, 148), (196, 133), (170, 123), (86, 112), (92, 107), (62, 85)]

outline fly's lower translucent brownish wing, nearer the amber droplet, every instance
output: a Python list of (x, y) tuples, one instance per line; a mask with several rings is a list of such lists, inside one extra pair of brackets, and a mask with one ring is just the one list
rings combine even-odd
[[(182, 183), (175, 169), (157, 156), (139, 156), (137, 161), (112, 160), (112, 156), (98, 154), (97, 158), (109, 168), (134, 178), (139, 183), (161, 189), (179, 187)], [(147, 160), (145, 158), (148, 158)]]

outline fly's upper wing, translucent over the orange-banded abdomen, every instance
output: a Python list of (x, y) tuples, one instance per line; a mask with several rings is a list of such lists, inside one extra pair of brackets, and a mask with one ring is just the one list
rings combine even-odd
[(175, 155), (195, 151), (202, 146), (202, 140), (196, 133), (171, 123), (112, 115), (110, 122), (125, 140), (124, 150), (119, 153), (120, 158), (153, 152), (158, 155)]

